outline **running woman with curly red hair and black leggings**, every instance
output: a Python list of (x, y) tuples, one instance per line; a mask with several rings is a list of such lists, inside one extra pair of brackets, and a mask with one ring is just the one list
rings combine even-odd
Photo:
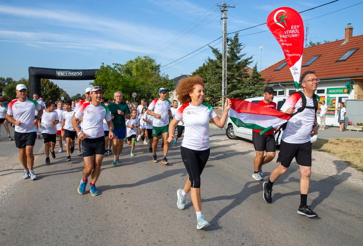
[(175, 127), (179, 121), (184, 122), (184, 138), (181, 142), (181, 159), (188, 172), (184, 188), (177, 190), (177, 206), (184, 209), (186, 194), (190, 196), (197, 214), (197, 229), (203, 229), (210, 224), (202, 214), (200, 197), (200, 174), (202, 173), (210, 154), (209, 120), (219, 128), (224, 127), (231, 101), (226, 100), (225, 111), (219, 118), (213, 108), (203, 103), (205, 86), (199, 76), (186, 77), (179, 82), (176, 92), (181, 107), (175, 113), (175, 118), (169, 124), (168, 142), (174, 140)]

